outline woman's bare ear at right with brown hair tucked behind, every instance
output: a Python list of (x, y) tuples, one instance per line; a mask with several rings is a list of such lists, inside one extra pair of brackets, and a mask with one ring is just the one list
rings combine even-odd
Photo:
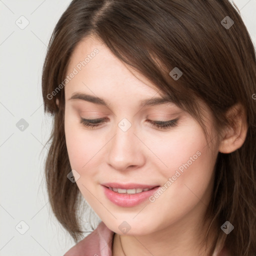
[(231, 153), (242, 146), (247, 133), (247, 118), (244, 107), (237, 103), (228, 109), (227, 118), (232, 127), (226, 126), (219, 144), (219, 152)]

